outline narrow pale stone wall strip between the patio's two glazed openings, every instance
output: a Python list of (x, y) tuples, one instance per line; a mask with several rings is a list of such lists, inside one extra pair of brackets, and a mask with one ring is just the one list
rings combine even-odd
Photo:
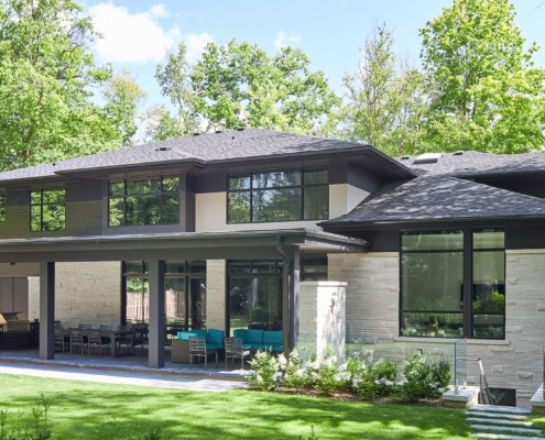
[(206, 262), (206, 327), (226, 329), (226, 261)]

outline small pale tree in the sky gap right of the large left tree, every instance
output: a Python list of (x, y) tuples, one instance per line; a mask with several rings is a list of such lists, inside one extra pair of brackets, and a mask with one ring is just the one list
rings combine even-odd
[(128, 69), (113, 75), (102, 94), (107, 100), (105, 111), (120, 130), (123, 146), (132, 145), (137, 133), (138, 108), (148, 95)]

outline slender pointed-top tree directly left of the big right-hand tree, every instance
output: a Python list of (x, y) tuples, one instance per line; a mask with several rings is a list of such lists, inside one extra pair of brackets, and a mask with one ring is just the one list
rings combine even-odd
[(385, 23), (372, 28), (358, 72), (344, 77), (345, 103), (328, 121), (326, 134), (369, 143), (393, 156), (422, 147), (424, 77), (397, 61), (393, 44)]

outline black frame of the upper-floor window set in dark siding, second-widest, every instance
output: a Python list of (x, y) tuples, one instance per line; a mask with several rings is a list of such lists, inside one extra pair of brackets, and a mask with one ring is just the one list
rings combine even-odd
[[(166, 179), (176, 179), (177, 180), (177, 186), (175, 190), (166, 190), (165, 189), (165, 184), (164, 182)], [(130, 193), (128, 189), (128, 186), (131, 183), (137, 183), (137, 182), (142, 182), (142, 180), (149, 180), (149, 182), (157, 182), (159, 183), (159, 191), (135, 191), (135, 193)], [(112, 193), (111, 188), (112, 185), (119, 185), (121, 184), (122, 189), (121, 193), (116, 194)], [(173, 175), (166, 175), (166, 176), (159, 176), (159, 177), (137, 177), (137, 178), (124, 178), (124, 179), (110, 179), (108, 180), (108, 204), (107, 204), (107, 221), (108, 221), (108, 228), (146, 228), (146, 227), (160, 227), (160, 226), (168, 226), (168, 224), (179, 224), (179, 176), (173, 176)], [(129, 216), (129, 204), (128, 199), (134, 198), (134, 199), (141, 199), (144, 197), (153, 197), (156, 198), (159, 201), (157, 208), (159, 208), (159, 219), (160, 221), (157, 223), (149, 223), (149, 224), (134, 224), (134, 223), (128, 223), (128, 216)], [(165, 221), (165, 204), (166, 200), (170, 198), (176, 198), (177, 199), (177, 210), (176, 210), (176, 219), (174, 221)], [(119, 200), (119, 202), (122, 205), (122, 208), (120, 209), (121, 213), (119, 216), (120, 224), (112, 224), (112, 219), (117, 219), (116, 217), (112, 217), (112, 201), (113, 200)]]

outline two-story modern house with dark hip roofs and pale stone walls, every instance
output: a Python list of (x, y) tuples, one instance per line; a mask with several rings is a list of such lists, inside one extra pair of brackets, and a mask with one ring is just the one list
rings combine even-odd
[[(4, 172), (0, 312), (40, 319), (42, 359), (55, 320), (149, 321), (155, 367), (165, 317), (281, 329), (285, 348), (308, 320), (402, 351), (467, 339), (525, 399), (543, 376), (543, 180), (542, 153), (393, 160), (259, 129)], [(342, 295), (309, 319), (320, 283)]]

